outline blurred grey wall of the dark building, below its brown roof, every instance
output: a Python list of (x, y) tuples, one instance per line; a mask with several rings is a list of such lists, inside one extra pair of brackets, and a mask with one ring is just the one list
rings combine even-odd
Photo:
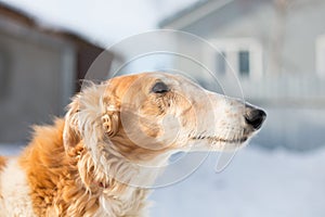
[(70, 44), (0, 22), (0, 142), (24, 142), (30, 126), (62, 115), (73, 93)]

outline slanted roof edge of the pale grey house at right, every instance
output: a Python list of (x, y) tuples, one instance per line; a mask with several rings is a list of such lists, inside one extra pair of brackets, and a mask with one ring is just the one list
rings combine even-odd
[(233, 1), (234, 0), (199, 0), (178, 13), (162, 20), (159, 23), (159, 27), (182, 29)]

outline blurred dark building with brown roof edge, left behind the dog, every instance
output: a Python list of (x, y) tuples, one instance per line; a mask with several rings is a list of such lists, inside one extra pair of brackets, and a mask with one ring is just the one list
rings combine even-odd
[[(74, 33), (41, 26), (0, 4), (0, 143), (25, 141), (31, 124), (62, 115), (102, 51)], [(112, 58), (107, 53), (107, 71)]]

